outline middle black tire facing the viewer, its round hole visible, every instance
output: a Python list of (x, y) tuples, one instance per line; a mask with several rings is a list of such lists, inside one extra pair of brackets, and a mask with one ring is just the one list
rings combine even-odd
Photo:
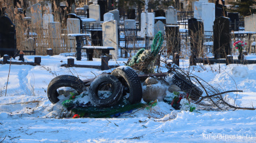
[[(111, 95), (104, 98), (99, 95), (99, 90), (106, 90), (106, 85), (111, 85)], [(89, 87), (88, 92), (93, 105), (99, 107), (111, 107), (116, 105), (123, 95), (123, 88), (121, 82), (113, 75), (100, 75), (95, 80), (93, 80), (92, 84)]]

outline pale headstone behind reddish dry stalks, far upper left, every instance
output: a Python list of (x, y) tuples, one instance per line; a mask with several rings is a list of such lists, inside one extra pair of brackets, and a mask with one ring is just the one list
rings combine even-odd
[(33, 4), (31, 6), (31, 25), (34, 28), (41, 27), (43, 25), (41, 4)]

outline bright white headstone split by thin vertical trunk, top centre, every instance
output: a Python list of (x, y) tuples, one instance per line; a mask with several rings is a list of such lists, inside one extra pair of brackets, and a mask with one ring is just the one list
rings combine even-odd
[[(148, 13), (148, 24), (147, 24), (147, 36), (154, 37), (154, 28), (155, 28), (155, 15), (154, 13)], [(145, 13), (141, 13), (141, 32), (140, 35), (142, 38), (145, 37)]]

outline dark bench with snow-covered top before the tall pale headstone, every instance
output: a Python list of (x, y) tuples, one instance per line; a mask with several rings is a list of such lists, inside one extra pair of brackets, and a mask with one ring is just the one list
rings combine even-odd
[(102, 56), (108, 56), (109, 50), (115, 50), (115, 48), (113, 47), (105, 47), (105, 46), (83, 46), (82, 49), (86, 50), (87, 61), (93, 61), (92, 59), (93, 50), (101, 50)]

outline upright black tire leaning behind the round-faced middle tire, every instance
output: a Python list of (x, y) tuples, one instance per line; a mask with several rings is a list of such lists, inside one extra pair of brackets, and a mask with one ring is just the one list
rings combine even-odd
[(111, 72), (121, 81), (124, 87), (129, 87), (128, 100), (131, 104), (141, 102), (142, 98), (142, 87), (138, 74), (129, 66), (120, 66)]

